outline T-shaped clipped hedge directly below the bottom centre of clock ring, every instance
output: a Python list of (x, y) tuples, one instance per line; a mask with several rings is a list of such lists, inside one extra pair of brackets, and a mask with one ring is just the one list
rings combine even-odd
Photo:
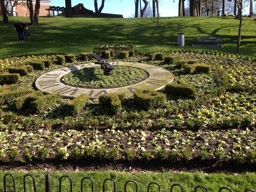
[(117, 114), (122, 110), (122, 102), (124, 101), (124, 94), (101, 94), (99, 96), (99, 102), (103, 106), (110, 107), (111, 114)]

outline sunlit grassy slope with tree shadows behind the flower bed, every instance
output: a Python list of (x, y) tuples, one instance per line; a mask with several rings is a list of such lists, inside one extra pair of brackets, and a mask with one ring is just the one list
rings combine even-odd
[[(168, 50), (177, 46), (177, 34), (185, 33), (185, 48), (193, 48), (195, 36), (221, 36), (224, 48), (197, 48), (236, 52), (239, 20), (225, 17), (160, 18), (64, 18), (41, 17), (41, 26), (32, 26), (30, 43), (18, 42), (12, 25), (29, 24), (28, 17), (9, 17), (10, 24), (0, 23), (0, 58), (22, 54), (92, 51), (98, 44), (135, 44), (142, 52)], [(244, 18), (240, 54), (256, 57), (256, 21)]]

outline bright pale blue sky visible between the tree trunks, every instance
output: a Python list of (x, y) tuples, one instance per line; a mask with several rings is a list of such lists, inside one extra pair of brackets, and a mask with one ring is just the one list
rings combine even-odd
[[(152, 6), (152, 0), (148, 0), (149, 6)], [(65, 0), (51, 0), (52, 6), (65, 6)], [(161, 17), (178, 16), (178, 0), (161, 0), (159, 6), (159, 12)], [(84, 7), (89, 10), (94, 9), (94, 0), (71, 0), (71, 6), (75, 6), (78, 3), (84, 4)], [(101, 0), (98, 0), (98, 8), (100, 8)], [(142, 3), (142, 7), (143, 7)], [(102, 13), (121, 14), (124, 18), (131, 16), (135, 12), (134, 0), (106, 0)]]

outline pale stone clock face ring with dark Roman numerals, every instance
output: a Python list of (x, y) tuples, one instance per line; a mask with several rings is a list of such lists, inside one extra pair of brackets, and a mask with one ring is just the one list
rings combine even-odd
[[(60, 68), (46, 74), (43, 74), (36, 80), (36, 88), (38, 90), (43, 91), (45, 94), (56, 94), (59, 93), (64, 98), (75, 98), (80, 94), (88, 94), (90, 99), (98, 98), (100, 94), (108, 94), (108, 93), (125, 93), (127, 97), (133, 95), (134, 90), (138, 89), (154, 89), (158, 90), (163, 88), (166, 84), (171, 82), (174, 78), (174, 75), (161, 67), (153, 66), (150, 64), (143, 63), (133, 63), (133, 62), (110, 62), (112, 65), (116, 66), (128, 66), (135, 67), (145, 70), (149, 77), (137, 84), (133, 84), (130, 86), (120, 87), (120, 88), (110, 88), (110, 89), (87, 89), (87, 88), (77, 88), (65, 85), (60, 82), (60, 79), (65, 74), (80, 70), (82, 68), (89, 68), (98, 66), (94, 63), (81, 64), (76, 66), (68, 66), (64, 68)], [(103, 70), (102, 70), (103, 73)]]

